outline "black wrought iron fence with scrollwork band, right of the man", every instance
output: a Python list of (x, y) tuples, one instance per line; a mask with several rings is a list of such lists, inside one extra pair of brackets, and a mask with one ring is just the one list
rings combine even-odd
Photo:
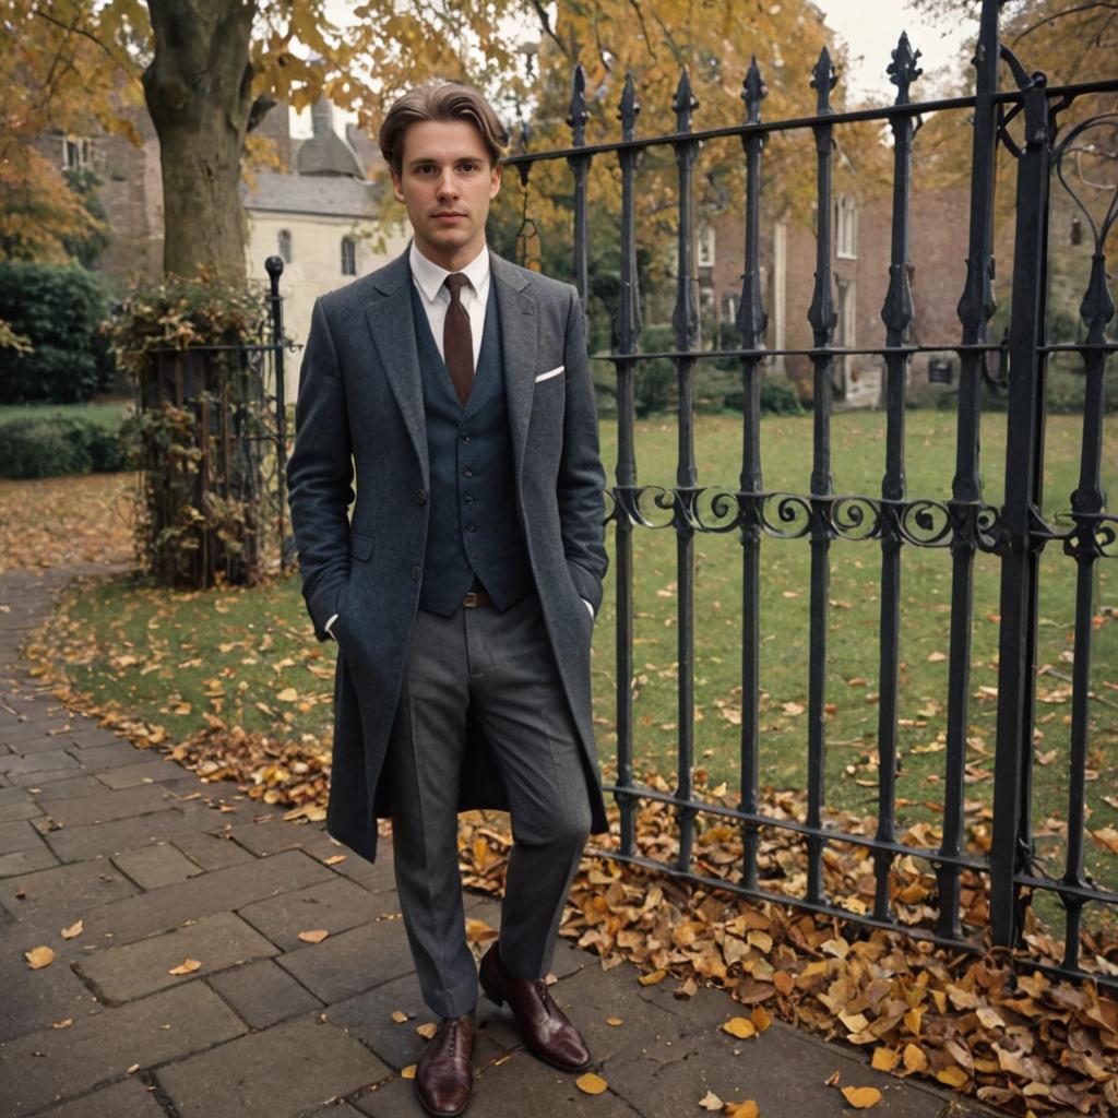
[[(1116, 202), (1101, 220), (1083, 207), (1092, 234), (1092, 266), (1081, 315), (1086, 340), (1078, 344), (1049, 344), (1045, 337), (1048, 215), (1053, 170), (1067, 186), (1065, 160), (1092, 129), (1115, 123), (1115, 114), (1096, 116), (1059, 136), (1061, 114), (1077, 98), (1118, 91), (1118, 78), (1074, 86), (1049, 86), (1041, 73), (1029, 73), (999, 41), (997, 0), (984, 0), (978, 49), (975, 58), (976, 89), (972, 96), (913, 102), (910, 87), (919, 74), (917, 56), (902, 36), (893, 51), (889, 75), (897, 86), (892, 105), (873, 110), (836, 112), (831, 94), (836, 75), (826, 50), (815, 65), (811, 85), (816, 110), (811, 116), (764, 121), (765, 83), (756, 63), (749, 67), (741, 94), (745, 120), (740, 125), (695, 131), (695, 101), (683, 70), (675, 93), (675, 132), (638, 138), (637, 91), (633, 75), (625, 82), (619, 105), (620, 139), (587, 144), (588, 120), (585, 75), (576, 69), (568, 124), (571, 146), (525, 152), (505, 162), (517, 167), (528, 186), (532, 165), (541, 160), (566, 160), (574, 176), (574, 275), (584, 304), (589, 292), (587, 177), (594, 160), (613, 158), (622, 178), (620, 292), (615, 319), (615, 351), (608, 354), (616, 371), (618, 452), (616, 480), (609, 490), (614, 524), (616, 588), (616, 729), (617, 779), (607, 785), (620, 806), (619, 850), (610, 856), (644, 866), (664, 869), (717, 888), (731, 888), (746, 896), (789, 902), (817, 913), (861, 925), (897, 928), (936, 942), (979, 949), (974, 935), (960, 921), (960, 882), (968, 873), (988, 882), (989, 931), (995, 945), (1020, 947), (1025, 909), (1034, 891), (1054, 893), (1065, 910), (1062, 960), (1038, 960), (1042, 969), (1107, 980), (1080, 958), (1080, 921), (1083, 907), (1118, 904), (1118, 893), (1092, 883), (1084, 872), (1084, 779), (1088, 758), (1088, 702), (1095, 581), (1098, 562), (1118, 556), (1118, 518), (1108, 513), (1101, 485), (1102, 383), (1108, 359), (1118, 349), (1106, 337), (1114, 316), (1107, 290), (1106, 240), (1118, 214)], [(1011, 78), (1001, 88), (1003, 74)], [(961, 323), (958, 342), (918, 345), (909, 341), (913, 303), (909, 278), (910, 196), (912, 189), (913, 136), (922, 114), (954, 112), (973, 116), (970, 167), (969, 241), (966, 280), (957, 314)], [(1024, 123), (1023, 140), (1014, 139), (1011, 125)], [(836, 347), (836, 305), (832, 271), (832, 161), (835, 130), (856, 121), (878, 121), (892, 131), (893, 180), (889, 256), (889, 286), (881, 311), (884, 344), (871, 348)], [(808, 349), (774, 350), (765, 347), (767, 325), (761, 282), (761, 184), (766, 140), (775, 132), (806, 134), (816, 161), (815, 285), (808, 321), (813, 344)], [(1114, 132), (1110, 133), (1111, 138)], [(694, 275), (694, 168), (700, 143), (719, 136), (738, 136), (745, 154), (745, 273), (738, 326), (741, 348), (699, 349), (699, 307)], [(636, 263), (637, 228), (635, 190), (637, 159), (652, 146), (674, 149), (678, 164), (678, 266), (673, 314), (675, 348), (669, 352), (638, 353), (642, 299)], [(993, 297), (993, 214), (995, 159), (1002, 150), (1016, 164), (1015, 250), (1012, 321), (1007, 342), (989, 340), (995, 311)], [(1069, 189), (1071, 189), (1069, 187)], [(1073, 191), (1072, 191), (1073, 192)], [(1079, 199), (1077, 201), (1081, 203)], [(527, 220), (527, 210), (525, 210)], [(980, 388), (987, 358), (1008, 352), (1007, 447), (1004, 503), (994, 506), (983, 496), (979, 472)], [(960, 364), (955, 475), (949, 500), (913, 496), (906, 481), (906, 391), (912, 354), (954, 351)], [(1079, 485), (1071, 509), (1054, 518), (1064, 527), (1046, 522), (1042, 514), (1044, 465), (1045, 377), (1048, 359), (1055, 352), (1078, 353), (1086, 377), (1082, 459)], [(802, 354), (812, 363), (813, 458), (808, 493), (776, 492), (765, 486), (760, 451), (761, 362), (775, 353)], [(832, 475), (831, 420), (832, 372), (847, 354), (878, 354), (884, 363), (885, 473), (880, 496), (836, 492)], [(743, 387), (742, 461), (739, 484), (733, 487), (701, 485), (695, 466), (692, 381), (697, 364), (712, 358), (737, 357)], [(678, 375), (679, 457), (672, 487), (639, 485), (635, 455), (634, 378), (637, 359), (669, 359)], [(657, 519), (656, 513), (661, 515)], [(634, 534), (642, 528), (670, 528), (676, 539), (678, 563), (678, 774), (672, 792), (662, 792), (634, 778)], [(702, 533), (737, 532), (741, 544), (741, 741), (740, 802), (729, 807), (695, 797), (692, 773), (695, 764), (694, 647), (695, 647), (695, 539)], [(760, 616), (761, 542), (807, 539), (811, 547), (811, 615), (808, 633), (808, 730), (806, 813), (802, 819), (766, 814), (759, 798), (760, 735)], [(878, 718), (878, 825), (871, 835), (837, 830), (825, 818), (826, 783), (826, 663), (832, 629), (828, 579), (832, 544), (836, 540), (878, 541), (880, 570), (880, 707)], [(1074, 619), (1074, 669), (1072, 717), (1067, 746), (1068, 843), (1062, 877), (1053, 879), (1036, 869), (1031, 823), (1031, 774), (1035, 722), (1035, 670), (1038, 643), (1038, 589), (1040, 558), (1048, 544), (1059, 543), (1078, 566)], [(946, 764), (941, 840), (935, 847), (917, 847), (897, 833), (896, 773), (898, 761), (898, 665), (901, 661), (902, 557), (906, 548), (944, 548), (951, 556), (951, 601), (948, 685), (946, 697)], [(1001, 620), (998, 657), (998, 707), (994, 761), (994, 809), (988, 855), (966, 849), (965, 768), (967, 722), (970, 703), (972, 622), (976, 555), (991, 553), (1001, 565)], [(679, 855), (674, 863), (652, 860), (636, 849), (636, 811), (643, 799), (672, 805), (678, 816)], [(697, 870), (693, 862), (695, 819), (713, 814), (740, 825), (743, 854), (740, 880), (728, 883)], [(758, 844), (767, 830), (792, 832), (806, 849), (806, 890), (789, 897), (766, 888), (758, 873)], [(852, 911), (828, 898), (824, 882), (824, 855), (828, 844), (860, 845), (871, 853), (874, 875), (872, 909)], [(938, 880), (938, 918), (923, 930), (902, 927), (891, 896), (891, 873), (903, 855), (917, 855), (935, 866)], [(1114, 980), (1111, 978), (1111, 980)]]

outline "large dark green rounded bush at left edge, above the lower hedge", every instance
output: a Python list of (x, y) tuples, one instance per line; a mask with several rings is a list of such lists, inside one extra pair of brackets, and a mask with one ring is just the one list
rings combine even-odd
[(85, 268), (0, 263), (0, 319), (31, 352), (0, 348), (0, 402), (78, 404), (112, 378), (100, 326), (108, 311), (105, 280)]

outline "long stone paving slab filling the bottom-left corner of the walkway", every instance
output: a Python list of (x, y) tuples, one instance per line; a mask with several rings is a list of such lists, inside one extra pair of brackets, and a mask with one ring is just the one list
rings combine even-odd
[[(246, 1032), (205, 983), (44, 1029), (0, 1048), (0, 1114), (19, 1118)], [(236, 1111), (226, 1111), (230, 1116)]]

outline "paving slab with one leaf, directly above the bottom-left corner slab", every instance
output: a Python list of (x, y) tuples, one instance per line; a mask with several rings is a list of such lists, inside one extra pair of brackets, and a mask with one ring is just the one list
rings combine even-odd
[[(218, 912), (162, 936), (104, 948), (75, 966), (103, 1003), (119, 1005), (275, 954), (276, 948), (238, 916)], [(201, 966), (188, 975), (170, 973), (187, 959)]]

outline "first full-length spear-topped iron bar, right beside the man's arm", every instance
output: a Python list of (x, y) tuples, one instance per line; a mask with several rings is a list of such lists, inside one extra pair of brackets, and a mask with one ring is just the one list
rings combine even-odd
[[(625, 76), (618, 116), (622, 139), (636, 138), (636, 100), (633, 72)], [(634, 150), (617, 153), (622, 168), (622, 290), (614, 332), (619, 353), (635, 353), (641, 337), (641, 290), (636, 269), (636, 162)], [(633, 784), (633, 519), (629, 509), (636, 489), (636, 449), (633, 429), (636, 424), (633, 395), (633, 361), (617, 361), (617, 487), (614, 491), (616, 517), (615, 570), (617, 587), (617, 784)], [(618, 795), (620, 806), (620, 849), (633, 854), (636, 841), (636, 800)]]

